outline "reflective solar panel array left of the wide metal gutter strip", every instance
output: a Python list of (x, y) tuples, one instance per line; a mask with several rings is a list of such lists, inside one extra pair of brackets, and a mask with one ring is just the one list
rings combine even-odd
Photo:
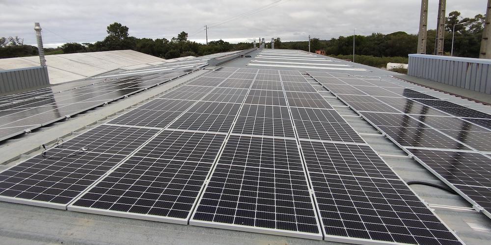
[(0, 97), (0, 141), (111, 101), (128, 97), (190, 73), (207, 60), (227, 53), (201, 56)]

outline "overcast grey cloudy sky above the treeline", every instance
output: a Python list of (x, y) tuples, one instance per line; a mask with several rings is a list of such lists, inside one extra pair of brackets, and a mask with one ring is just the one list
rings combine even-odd
[[(487, 0), (447, 0), (447, 14), (484, 14)], [(43, 28), (45, 47), (96, 42), (119, 22), (138, 38), (167, 38), (186, 31), (190, 39), (229, 42), (280, 37), (283, 41), (321, 39), (372, 32), (417, 33), (420, 0), (0, 0), (0, 37), (19, 36), (35, 44), (34, 22)], [(428, 27), (435, 28), (438, 0), (430, 0)]]

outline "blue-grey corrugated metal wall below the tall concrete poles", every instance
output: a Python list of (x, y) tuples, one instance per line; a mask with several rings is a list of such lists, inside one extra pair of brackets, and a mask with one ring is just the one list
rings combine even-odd
[(408, 75), (491, 95), (491, 60), (409, 54)]

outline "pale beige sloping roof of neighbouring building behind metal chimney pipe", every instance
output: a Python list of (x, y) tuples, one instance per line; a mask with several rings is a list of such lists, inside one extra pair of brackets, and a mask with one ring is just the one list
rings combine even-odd
[[(165, 59), (134, 50), (52, 54), (45, 57), (51, 84), (78, 80), (118, 68), (132, 70), (155, 62), (165, 62)], [(0, 70), (33, 66), (39, 66), (38, 56), (0, 59)]]

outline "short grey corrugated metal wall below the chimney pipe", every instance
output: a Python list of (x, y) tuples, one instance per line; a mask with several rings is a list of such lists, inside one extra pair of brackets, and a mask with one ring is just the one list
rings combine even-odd
[(49, 85), (46, 66), (0, 71), (0, 95)]

